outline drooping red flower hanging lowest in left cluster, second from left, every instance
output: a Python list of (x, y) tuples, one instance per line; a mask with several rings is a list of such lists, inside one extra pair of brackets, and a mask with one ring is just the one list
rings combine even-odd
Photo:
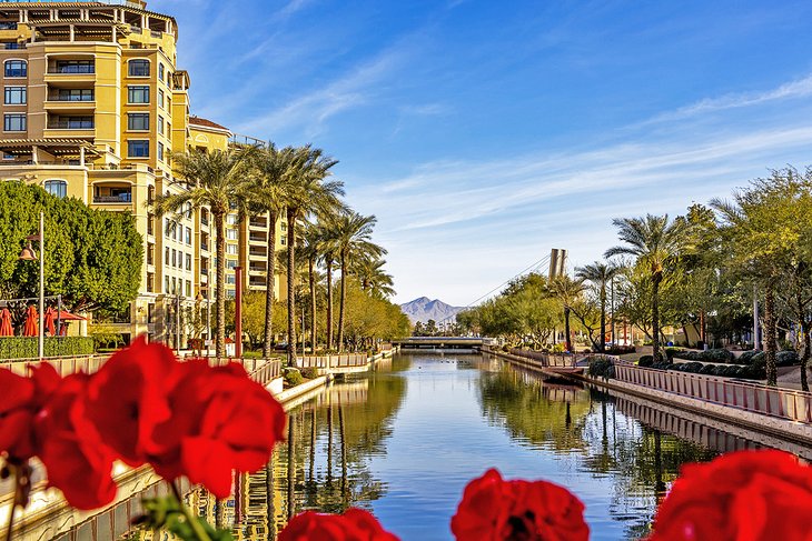
[(39, 457), (48, 484), (62, 491), (77, 509), (96, 509), (116, 497), (111, 477), (112, 452), (85, 418), (83, 393), (89, 377), (68, 375), (37, 415)]

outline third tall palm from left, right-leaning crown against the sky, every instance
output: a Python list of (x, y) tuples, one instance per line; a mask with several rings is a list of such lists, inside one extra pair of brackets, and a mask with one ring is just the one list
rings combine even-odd
[(288, 365), (296, 365), (296, 287), (293, 280), (296, 268), (296, 221), (307, 214), (329, 214), (343, 207), (344, 183), (326, 180), (336, 160), (324, 156), (320, 149), (309, 144), (296, 149), (289, 181), (286, 182), (285, 207), (288, 246)]

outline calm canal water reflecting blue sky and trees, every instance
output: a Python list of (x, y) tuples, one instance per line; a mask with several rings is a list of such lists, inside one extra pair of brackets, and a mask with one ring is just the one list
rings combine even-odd
[(271, 540), (291, 514), (350, 505), (404, 540), (452, 539), (465, 484), (497, 468), (572, 490), (593, 540), (637, 539), (681, 464), (759, 447), (493, 357), (435, 353), (400, 354), (324, 390), (290, 411), (288, 435), (235, 498), (192, 493), (198, 511), (238, 539)]

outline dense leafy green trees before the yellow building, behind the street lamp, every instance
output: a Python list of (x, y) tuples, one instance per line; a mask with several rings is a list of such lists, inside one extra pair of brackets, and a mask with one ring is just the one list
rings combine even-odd
[[(88, 208), (22, 182), (0, 182), (0, 297), (39, 294), (39, 264), (20, 261), (44, 212), (46, 295), (75, 311), (121, 312), (138, 295), (143, 239), (129, 212)], [(36, 250), (37, 247), (34, 247)]]

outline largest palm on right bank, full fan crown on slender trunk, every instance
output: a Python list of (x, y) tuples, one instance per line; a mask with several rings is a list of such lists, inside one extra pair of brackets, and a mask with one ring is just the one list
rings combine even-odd
[(632, 256), (643, 266), (652, 280), (652, 353), (660, 357), (660, 284), (673, 271), (690, 242), (685, 220), (669, 220), (669, 214), (645, 218), (617, 218), (612, 223), (624, 242), (606, 250), (604, 257)]

